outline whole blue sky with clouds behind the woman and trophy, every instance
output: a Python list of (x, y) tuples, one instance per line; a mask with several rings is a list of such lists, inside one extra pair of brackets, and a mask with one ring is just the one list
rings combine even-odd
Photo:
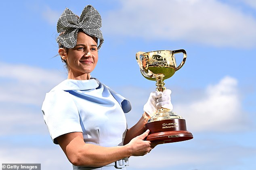
[[(105, 38), (91, 75), (130, 100), (130, 127), (155, 90), (140, 74), (135, 53), (187, 51), (183, 68), (165, 83), (173, 111), (186, 119), (194, 139), (131, 157), (129, 170), (256, 169), (255, 0), (1, 2), (0, 163), (72, 168), (50, 139), (41, 105), (67, 77), (55, 57), (57, 19), (65, 7), (80, 15), (87, 4), (101, 13)], [(181, 59), (176, 55), (177, 63)]]

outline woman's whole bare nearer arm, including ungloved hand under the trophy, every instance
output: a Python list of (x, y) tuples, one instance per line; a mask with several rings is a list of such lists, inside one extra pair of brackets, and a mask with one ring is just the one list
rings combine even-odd
[(68, 160), (75, 166), (100, 167), (130, 156), (143, 156), (153, 147), (154, 142), (144, 141), (149, 131), (132, 139), (127, 145), (102, 147), (84, 143), (81, 132), (72, 132), (57, 137), (57, 141)]

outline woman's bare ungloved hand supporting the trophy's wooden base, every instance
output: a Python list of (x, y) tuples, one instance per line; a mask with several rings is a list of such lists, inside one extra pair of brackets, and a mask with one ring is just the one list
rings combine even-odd
[(144, 139), (147, 135), (149, 135), (149, 130), (137, 137), (134, 137), (126, 145), (130, 150), (131, 156), (143, 156), (149, 153), (156, 145), (164, 143), (163, 141), (145, 141)]

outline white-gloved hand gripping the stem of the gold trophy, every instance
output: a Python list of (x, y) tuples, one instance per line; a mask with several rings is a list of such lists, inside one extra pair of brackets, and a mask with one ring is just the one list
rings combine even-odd
[(144, 105), (143, 110), (152, 117), (157, 110), (161, 107), (172, 110), (172, 103), (171, 103), (171, 90), (166, 89), (164, 92), (151, 92), (149, 95), (149, 99), (147, 103)]

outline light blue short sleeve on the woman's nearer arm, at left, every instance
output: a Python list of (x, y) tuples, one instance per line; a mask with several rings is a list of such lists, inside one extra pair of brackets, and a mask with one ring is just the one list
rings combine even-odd
[(63, 90), (46, 93), (42, 104), (44, 122), (53, 143), (56, 137), (71, 132), (82, 132), (79, 112), (71, 95)]

